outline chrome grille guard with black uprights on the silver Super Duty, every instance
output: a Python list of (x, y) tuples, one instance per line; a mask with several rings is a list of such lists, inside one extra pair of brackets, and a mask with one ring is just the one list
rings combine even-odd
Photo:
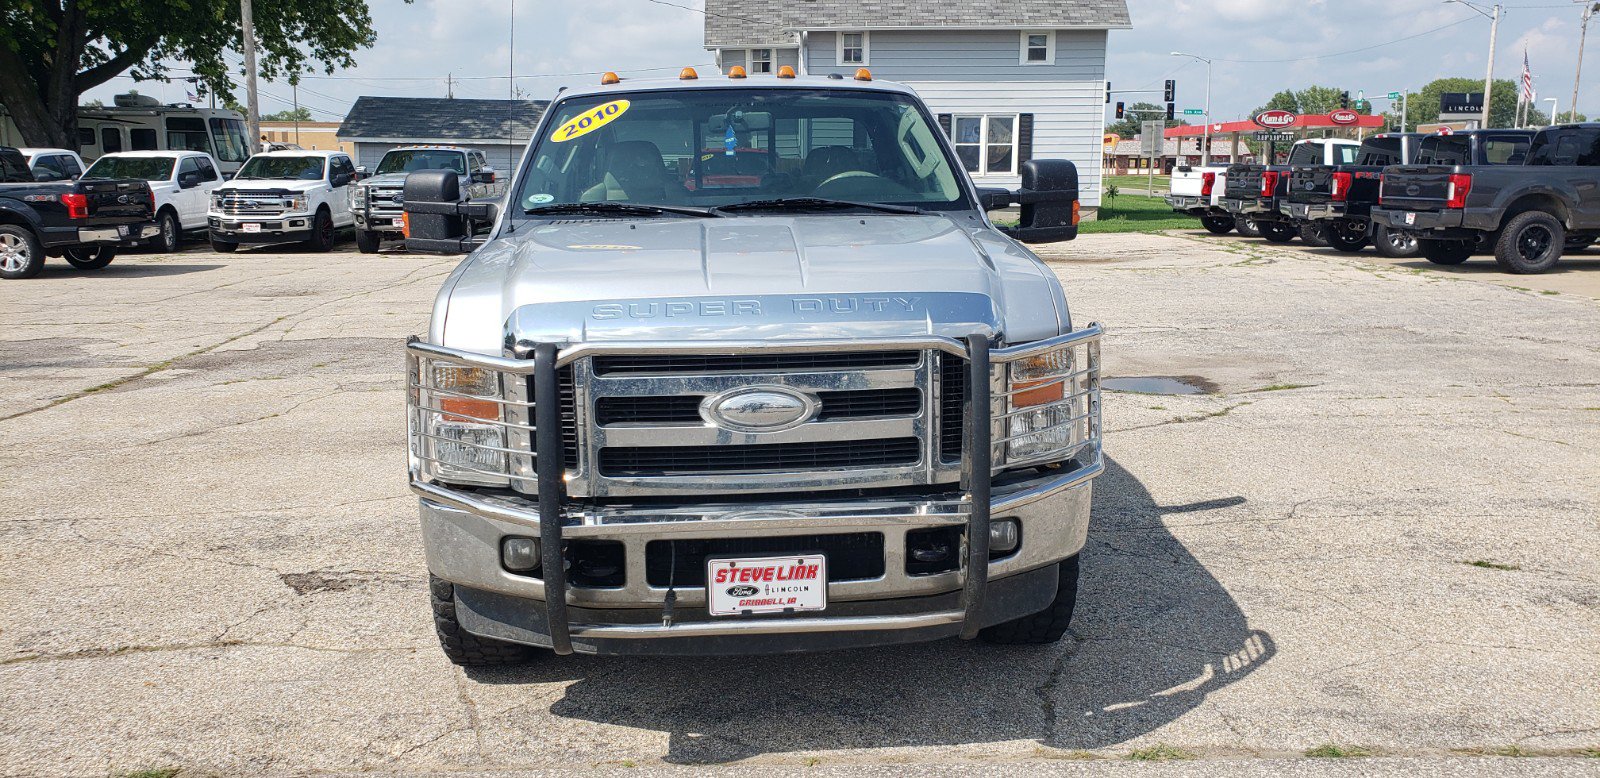
[[(437, 501), (451, 507), (475, 512), (478, 515), (486, 515), (498, 520), (522, 523), (526, 527), (534, 527), (539, 531), (541, 552), (542, 552), (542, 581), (544, 581), (544, 607), (546, 607), (546, 624), (550, 637), (550, 648), (558, 655), (573, 653), (573, 636), (592, 637), (592, 639), (653, 639), (653, 637), (691, 637), (706, 634), (782, 634), (782, 632), (816, 632), (816, 631), (859, 631), (859, 629), (914, 629), (933, 624), (962, 624), (962, 637), (973, 639), (978, 636), (981, 624), (978, 623), (978, 615), (982, 610), (986, 588), (989, 584), (989, 523), (992, 512), (992, 480), (995, 475), (995, 453), (1002, 453), (1005, 458), (1008, 442), (1042, 434), (1040, 429), (1024, 431), (1022, 434), (1010, 432), (1006, 419), (1014, 416), (1018, 411), (1011, 408), (1011, 399), (1019, 394), (1018, 389), (1010, 387), (1005, 381), (1005, 373), (997, 376), (995, 367), (1008, 368), (1014, 362), (1030, 360), (1034, 357), (1048, 355), (1059, 351), (1072, 351), (1082, 347), (1085, 352), (1085, 365), (1077, 368), (1075, 359), (1067, 362), (1066, 373), (1054, 376), (1053, 379), (1040, 381), (1030, 384), (1026, 391), (1038, 391), (1053, 384), (1072, 386), (1072, 381), (1082, 379), (1082, 391), (1074, 389), (1072, 392), (1062, 392), (1062, 399), (1050, 405), (1066, 405), (1069, 419), (1061, 424), (1083, 424), (1086, 439), (1078, 450), (1069, 451), (1064, 456), (1077, 456), (1085, 461), (1083, 467), (1078, 467), (1074, 475), (1054, 485), (1053, 488), (1070, 488), (1085, 483), (1101, 472), (1104, 472), (1104, 459), (1101, 453), (1101, 386), (1099, 386), (1099, 341), (1104, 330), (1099, 323), (1091, 323), (1083, 330), (1072, 331), (1069, 335), (1061, 335), (1056, 338), (1046, 338), (1042, 341), (1027, 343), (1022, 346), (1011, 346), (1002, 349), (992, 349), (989, 336), (986, 333), (974, 333), (965, 339), (954, 338), (896, 338), (896, 339), (874, 339), (874, 341), (738, 341), (738, 343), (582, 343), (582, 344), (555, 344), (541, 343), (531, 349), (518, 349), (525, 359), (512, 357), (491, 357), (459, 349), (448, 349), (443, 346), (435, 346), (422, 343), (418, 338), (411, 338), (406, 343), (406, 362), (410, 387), (408, 392), (413, 399), (411, 408), (406, 415), (408, 419), (408, 439), (411, 440), (411, 488), (426, 499)], [(965, 554), (962, 555), (962, 596), (958, 610), (942, 612), (942, 613), (922, 613), (922, 615), (904, 615), (904, 616), (819, 616), (819, 618), (765, 618), (765, 620), (749, 620), (749, 621), (723, 621), (717, 624), (682, 624), (682, 626), (640, 626), (640, 624), (574, 624), (570, 623), (566, 615), (566, 571), (563, 563), (563, 523), (570, 517), (582, 515), (581, 506), (571, 503), (565, 493), (565, 459), (563, 459), (563, 440), (562, 440), (562, 408), (557, 402), (536, 402), (536, 397), (558, 397), (558, 378), (557, 371), (573, 363), (574, 360), (592, 357), (597, 354), (741, 354), (741, 352), (763, 352), (763, 351), (784, 351), (784, 352), (843, 352), (843, 351), (890, 351), (890, 349), (938, 349), (946, 354), (954, 354), (966, 359), (966, 413), (965, 413), (965, 435), (962, 445), (962, 463), (960, 463), (960, 490), (962, 503), (966, 507), (965, 522)], [(448, 413), (443, 408), (427, 407), (426, 403), (416, 402), (422, 397), (422, 392), (437, 392), (427, 386), (429, 378), (424, 363), (446, 363), (466, 368), (483, 368), (494, 373), (507, 376), (531, 376), (533, 397), (518, 395), (514, 387), (528, 386), (528, 381), (509, 381), (507, 387), (512, 387), (507, 394), (510, 399), (501, 397), (475, 397), (477, 400), (486, 400), (498, 403), (506, 410), (522, 410), (525, 415), (520, 416), (531, 424), (512, 424), (512, 423), (491, 423), (507, 427), (509, 439), (514, 442), (507, 447), (496, 448), (507, 455), (509, 464), (504, 475), (510, 477), (512, 483), (528, 485), (534, 482), (538, 485), (538, 515), (530, 515), (525, 511), (507, 506), (502, 501), (480, 498), (467, 491), (450, 488), (446, 485), (434, 482), (426, 472), (426, 463), (432, 459), (427, 453), (430, 448), (424, 443), (419, 451), (419, 442), (426, 440), (426, 429), (421, 429), (422, 418), (427, 413)], [(995, 392), (995, 386), (1002, 386), (1000, 392)], [(995, 395), (1005, 400), (1000, 413), (995, 413)], [(470, 395), (458, 395), (470, 397)], [(1074, 413), (1075, 407), (1082, 403), (1082, 413)], [(528, 413), (531, 411), (531, 413)], [(582, 413), (582, 410), (579, 410)], [(530, 418), (531, 416), (531, 418)], [(997, 424), (1000, 424), (1000, 434), (997, 435)], [(1046, 427), (1048, 429), (1048, 427)], [(525, 448), (518, 448), (522, 443)], [(472, 443), (467, 443), (472, 445)], [(486, 447), (494, 448), (494, 447)], [(1086, 455), (1086, 456), (1085, 456)], [(1021, 466), (1021, 463), (1018, 464)], [(523, 488), (523, 491), (531, 491)], [(541, 520), (542, 517), (562, 517), (562, 520)], [(939, 519), (939, 517), (930, 517)], [(944, 517), (947, 519), (947, 517)], [(792, 522), (805, 519), (762, 519), (763, 522)], [(670, 522), (667, 522), (670, 523)], [(666, 527), (664, 523), (662, 527)], [(642, 527), (650, 527), (648, 522), (632, 523), (632, 530)]]

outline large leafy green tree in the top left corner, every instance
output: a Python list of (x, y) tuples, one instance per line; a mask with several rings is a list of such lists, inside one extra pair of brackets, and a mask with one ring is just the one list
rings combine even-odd
[[(274, 0), (254, 5), (259, 69), (267, 80), (355, 64), (376, 40), (365, 0)], [(243, 48), (237, 0), (0, 2), (0, 102), (30, 146), (75, 147), (78, 96), (133, 70), (162, 78), (190, 62), (224, 99), (224, 51)]]

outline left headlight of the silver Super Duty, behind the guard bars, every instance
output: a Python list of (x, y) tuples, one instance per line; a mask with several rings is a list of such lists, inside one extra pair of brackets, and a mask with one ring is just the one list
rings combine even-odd
[(443, 480), (506, 483), (506, 426), (501, 376), (493, 370), (422, 363), (414, 402), (424, 432), (419, 447)]

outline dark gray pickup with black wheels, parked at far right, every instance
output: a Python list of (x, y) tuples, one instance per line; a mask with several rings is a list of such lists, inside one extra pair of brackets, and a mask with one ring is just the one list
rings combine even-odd
[(1486, 248), (1506, 272), (1546, 272), (1600, 235), (1600, 123), (1389, 168), (1373, 223), (1416, 234), (1435, 264)]

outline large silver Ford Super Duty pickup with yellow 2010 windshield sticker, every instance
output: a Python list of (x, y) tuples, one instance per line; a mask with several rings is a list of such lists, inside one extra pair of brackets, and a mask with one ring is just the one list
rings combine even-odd
[(459, 664), (1067, 629), (1101, 330), (1019, 240), (1075, 166), (978, 189), (906, 86), (739, 75), (563, 91), (504, 210), (406, 179), (408, 247), (472, 250), (406, 349)]

